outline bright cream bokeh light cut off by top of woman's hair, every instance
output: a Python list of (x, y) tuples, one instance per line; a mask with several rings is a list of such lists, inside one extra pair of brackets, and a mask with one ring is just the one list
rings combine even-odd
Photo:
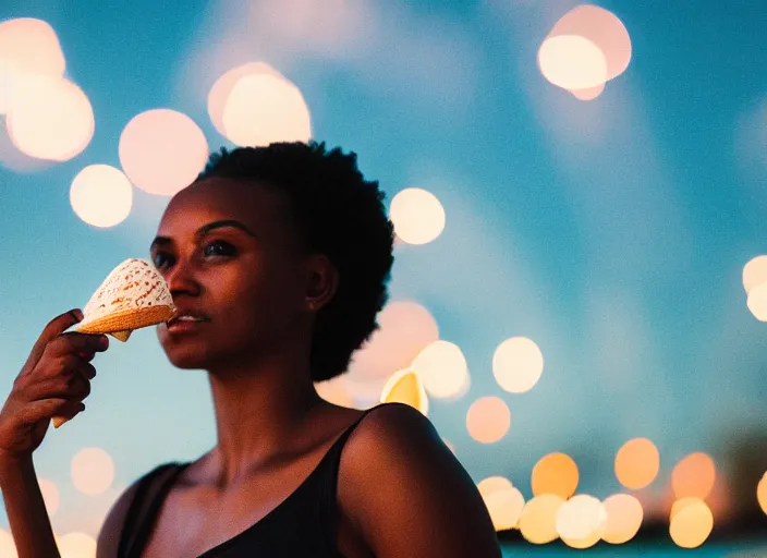
[(301, 90), (273, 73), (246, 74), (234, 83), (223, 107), (224, 135), (242, 146), (308, 142), (312, 119)]

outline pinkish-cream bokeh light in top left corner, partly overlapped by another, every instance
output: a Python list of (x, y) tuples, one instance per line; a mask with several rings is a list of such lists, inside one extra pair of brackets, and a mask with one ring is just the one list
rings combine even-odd
[(60, 78), (65, 68), (50, 24), (33, 17), (0, 22), (0, 114), (8, 112), (19, 78), (25, 74)]

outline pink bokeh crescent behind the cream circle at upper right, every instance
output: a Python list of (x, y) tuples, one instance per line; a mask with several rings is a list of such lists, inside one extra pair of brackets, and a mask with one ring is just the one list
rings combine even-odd
[(607, 80), (622, 74), (631, 61), (631, 37), (623, 23), (613, 14), (593, 4), (582, 4), (565, 13), (553, 26), (549, 37), (576, 35), (596, 45), (604, 53)]

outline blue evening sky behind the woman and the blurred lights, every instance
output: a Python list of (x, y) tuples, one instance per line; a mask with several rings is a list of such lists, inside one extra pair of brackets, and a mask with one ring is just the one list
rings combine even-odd
[[(136, 190), (125, 221), (96, 229), (71, 209), (74, 175), (119, 167), (120, 132), (153, 108), (188, 114), (211, 149), (230, 145), (208, 119), (207, 88), (263, 60), (302, 89), (315, 138), (356, 151), (389, 196), (419, 186), (442, 202), (442, 235), (398, 247), (391, 298), (424, 304), (467, 357), (471, 390), (434, 401), (430, 416), (475, 480), (503, 474), (528, 495), (535, 462), (567, 451), (584, 488), (607, 496), (618, 489), (614, 451), (631, 437), (653, 439), (668, 472), (692, 451), (716, 459), (734, 430), (767, 428), (767, 326), (741, 283), (746, 262), (767, 252), (767, 7), (599, 2), (626, 26), (633, 58), (582, 102), (536, 65), (541, 40), (576, 2), (370, 0), (375, 29), (305, 44), (257, 22), (238, 28), (245, 2), (223, 5), (0, 8), (0, 19), (53, 26), (96, 116), (74, 159), (28, 173), (0, 166), (5, 389), (51, 317), (82, 307), (122, 259), (146, 257), (167, 203)], [(538, 343), (546, 366), (532, 391), (512, 396), (490, 363), (515, 335)], [(62, 463), (99, 446), (127, 484), (215, 442), (204, 373), (174, 369), (151, 328), (112, 342), (95, 364), (88, 409), (50, 433), (40, 474), (65, 485)], [(464, 426), (470, 403), (487, 395), (512, 412), (492, 446)]]

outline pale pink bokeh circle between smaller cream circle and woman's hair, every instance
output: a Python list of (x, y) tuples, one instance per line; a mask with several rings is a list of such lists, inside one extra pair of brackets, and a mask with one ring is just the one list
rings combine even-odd
[(153, 109), (131, 119), (120, 135), (120, 165), (133, 185), (172, 196), (190, 185), (208, 159), (208, 143), (186, 114)]

